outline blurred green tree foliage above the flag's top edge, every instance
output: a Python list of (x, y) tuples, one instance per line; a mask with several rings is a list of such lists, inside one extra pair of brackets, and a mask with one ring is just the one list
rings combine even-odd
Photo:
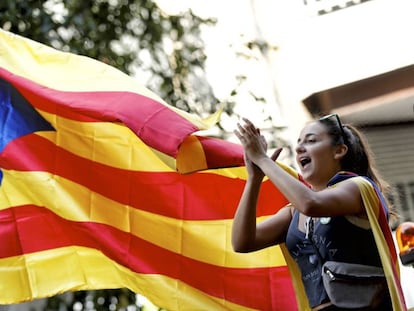
[(200, 27), (214, 23), (190, 10), (167, 15), (152, 0), (0, 2), (3, 29), (134, 74), (170, 104), (200, 115), (217, 110), (200, 38)]

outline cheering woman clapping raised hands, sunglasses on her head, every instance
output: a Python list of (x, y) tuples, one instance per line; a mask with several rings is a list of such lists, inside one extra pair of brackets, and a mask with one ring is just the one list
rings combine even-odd
[[(342, 126), (337, 115), (307, 124), (297, 142), (296, 161), (308, 185), (275, 164), (280, 150), (272, 157), (266, 155), (267, 144), (249, 120), (238, 124), (235, 134), (244, 147), (248, 178), (232, 228), (234, 250), (251, 252), (286, 243), (301, 271), (312, 310), (343, 310), (332, 304), (324, 289), (323, 262), (382, 266), (361, 194), (361, 177), (356, 175), (368, 177), (381, 190), (385, 184), (375, 172), (361, 133), (350, 125)], [(256, 204), (265, 175), (290, 204), (256, 224)], [(379, 209), (374, 207), (375, 216)], [(403, 298), (400, 300), (398, 308), (404, 309)], [(384, 295), (375, 308), (392, 309), (390, 295)]]

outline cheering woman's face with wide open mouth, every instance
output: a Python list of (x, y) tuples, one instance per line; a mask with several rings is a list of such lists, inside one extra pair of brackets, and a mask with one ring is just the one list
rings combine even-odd
[(326, 187), (328, 181), (341, 170), (338, 146), (333, 146), (326, 127), (320, 122), (306, 125), (296, 146), (296, 162), (303, 178), (315, 190)]

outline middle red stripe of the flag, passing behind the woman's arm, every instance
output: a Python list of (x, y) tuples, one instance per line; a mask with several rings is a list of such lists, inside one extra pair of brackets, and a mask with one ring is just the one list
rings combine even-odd
[[(232, 219), (245, 183), (213, 173), (119, 169), (78, 157), (35, 134), (10, 142), (0, 155), (0, 167), (49, 172), (121, 204), (186, 220)], [(264, 182), (258, 216), (273, 214), (286, 203), (270, 181)]]

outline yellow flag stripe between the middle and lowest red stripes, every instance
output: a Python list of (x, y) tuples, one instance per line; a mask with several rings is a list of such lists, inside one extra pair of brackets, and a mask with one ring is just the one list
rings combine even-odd
[[(42, 187), (33, 187), (39, 184)], [(235, 253), (230, 242), (232, 220), (177, 220), (119, 204), (53, 174), (4, 170), (0, 209), (25, 204), (46, 206), (71, 221), (107, 224), (174, 253), (217, 266), (286, 265), (278, 246), (250, 254)], [(108, 206), (110, 213), (105, 208)]]

